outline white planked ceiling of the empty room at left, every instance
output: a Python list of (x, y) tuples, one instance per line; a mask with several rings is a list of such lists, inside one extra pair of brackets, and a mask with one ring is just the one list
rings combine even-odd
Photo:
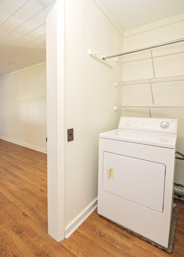
[(0, 76), (46, 60), (46, 9), (35, 0), (0, 1)]

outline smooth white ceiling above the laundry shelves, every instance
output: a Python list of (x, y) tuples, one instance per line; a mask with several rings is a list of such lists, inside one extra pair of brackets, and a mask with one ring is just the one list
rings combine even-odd
[(124, 31), (184, 12), (184, 0), (102, 1)]

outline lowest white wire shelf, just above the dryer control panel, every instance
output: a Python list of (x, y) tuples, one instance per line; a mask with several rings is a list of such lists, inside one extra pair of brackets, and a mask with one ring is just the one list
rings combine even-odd
[(114, 105), (114, 110), (117, 109), (134, 109), (134, 110), (184, 110), (184, 106), (165, 106), (165, 105)]

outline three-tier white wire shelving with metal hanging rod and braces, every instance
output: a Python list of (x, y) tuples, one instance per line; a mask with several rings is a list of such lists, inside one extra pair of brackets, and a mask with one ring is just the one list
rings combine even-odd
[[(132, 61), (140, 61), (145, 59), (152, 59), (153, 73), (154, 77), (149, 79), (138, 79), (138, 80), (129, 80), (129, 81), (115, 81), (115, 86), (117, 85), (137, 85), (137, 84), (145, 84), (150, 83), (151, 93), (152, 93), (152, 105), (146, 106), (133, 106), (133, 105), (124, 105), (124, 106), (115, 106), (114, 110), (117, 109), (137, 109), (137, 110), (184, 110), (184, 106), (163, 106), (163, 105), (154, 105), (154, 97), (152, 91), (152, 83), (159, 82), (169, 82), (169, 81), (182, 81), (184, 80), (184, 75), (175, 75), (169, 77), (155, 77), (154, 72), (154, 63), (153, 58), (163, 57), (171, 54), (178, 54), (184, 52), (184, 38), (147, 46), (144, 48), (139, 48), (135, 50), (131, 50), (128, 52), (123, 52), (120, 54), (115, 54), (107, 57), (103, 57), (103, 60), (115, 57), (115, 61), (121, 60), (123, 63), (132, 62)], [(151, 113), (150, 113), (151, 117)]]

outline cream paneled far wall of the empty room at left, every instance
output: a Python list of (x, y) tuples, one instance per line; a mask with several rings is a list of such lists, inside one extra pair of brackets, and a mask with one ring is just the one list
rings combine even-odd
[(47, 151), (46, 63), (0, 77), (0, 138)]

